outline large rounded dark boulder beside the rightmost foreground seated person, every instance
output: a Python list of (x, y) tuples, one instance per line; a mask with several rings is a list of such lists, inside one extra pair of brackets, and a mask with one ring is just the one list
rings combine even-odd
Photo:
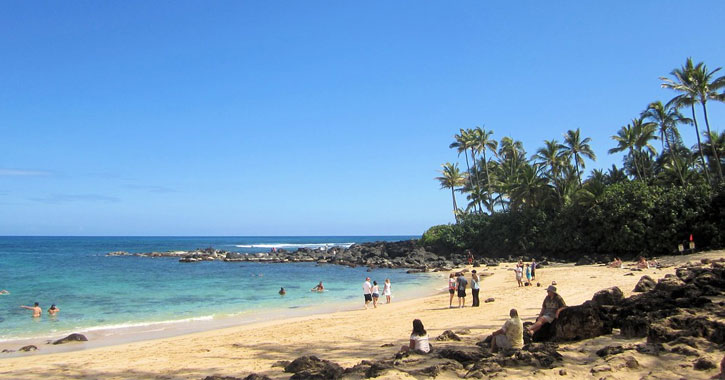
[(567, 307), (556, 319), (555, 339), (572, 341), (611, 334), (612, 325), (605, 318), (604, 313), (590, 302)]

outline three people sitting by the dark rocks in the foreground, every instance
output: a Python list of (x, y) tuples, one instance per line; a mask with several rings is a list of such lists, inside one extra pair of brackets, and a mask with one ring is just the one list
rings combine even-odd
[[(526, 329), (519, 317), (518, 310), (511, 309), (509, 311), (509, 319), (500, 329), (491, 334), (491, 351), (496, 352), (501, 349), (521, 348), (524, 346), (524, 333), (533, 336), (545, 324), (551, 323), (559, 317), (559, 313), (566, 308), (566, 302), (557, 293), (556, 286), (554, 285), (546, 288), (546, 293), (536, 321)], [(407, 346), (401, 347), (401, 352), (412, 351), (419, 354), (427, 354), (431, 348), (428, 333), (423, 327), (423, 322), (419, 319), (413, 320), (413, 331), (410, 334), (410, 342)]]

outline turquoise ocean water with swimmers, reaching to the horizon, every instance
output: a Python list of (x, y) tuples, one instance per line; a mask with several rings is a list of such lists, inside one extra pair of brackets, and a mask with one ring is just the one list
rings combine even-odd
[[(182, 320), (264, 314), (270, 310), (362, 305), (366, 276), (390, 278), (395, 297), (430, 293), (425, 275), (400, 269), (348, 268), (315, 263), (179, 263), (174, 258), (108, 257), (124, 250), (148, 252), (214, 247), (235, 252), (271, 247), (349, 246), (410, 236), (366, 237), (0, 237), (0, 341), (53, 337)], [(326, 292), (310, 292), (319, 281)], [(280, 296), (280, 287), (287, 295)], [(39, 302), (33, 319), (20, 305)], [(61, 312), (45, 312), (56, 304)]]

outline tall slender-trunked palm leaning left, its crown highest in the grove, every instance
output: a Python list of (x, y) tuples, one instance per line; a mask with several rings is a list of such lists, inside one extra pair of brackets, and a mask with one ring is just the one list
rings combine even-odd
[(702, 167), (705, 171), (707, 182), (709, 183), (710, 171), (707, 168), (707, 164), (705, 164), (705, 155), (702, 152), (702, 142), (700, 141), (700, 127), (697, 124), (697, 115), (695, 115), (695, 103), (697, 103), (698, 95), (696, 90), (697, 83), (693, 75), (694, 72), (695, 66), (692, 63), (692, 58), (687, 58), (684, 66), (670, 72), (670, 75), (675, 78), (674, 80), (667, 77), (660, 77), (660, 80), (664, 81), (661, 85), (662, 88), (669, 88), (681, 93), (667, 102), (668, 106), (674, 105), (677, 108), (690, 106), (690, 110), (692, 111), (692, 122), (695, 125), (695, 136), (697, 137), (697, 150), (700, 153)]

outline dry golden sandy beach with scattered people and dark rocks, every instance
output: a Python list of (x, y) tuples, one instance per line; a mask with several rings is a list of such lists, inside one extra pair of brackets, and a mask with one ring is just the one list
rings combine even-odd
[[(203, 379), (209, 375), (244, 377), (250, 373), (267, 375), (273, 379), (287, 379), (291, 374), (274, 366), (281, 360), (293, 360), (302, 355), (316, 355), (350, 367), (361, 360), (379, 360), (392, 357), (398, 348), (407, 344), (411, 321), (419, 318), (428, 334), (435, 338), (445, 330), (470, 330), (466, 341), (478, 341), (501, 327), (508, 311), (517, 308), (524, 321), (533, 321), (546, 295), (545, 287), (556, 281), (559, 293), (569, 305), (578, 305), (599, 290), (619, 286), (625, 296), (632, 294), (637, 281), (644, 274), (655, 280), (674, 273), (678, 265), (702, 258), (725, 257), (725, 251), (713, 251), (689, 256), (660, 257), (664, 269), (631, 271), (632, 262), (625, 262), (623, 269), (601, 265), (574, 266), (561, 264), (537, 270), (536, 282), (542, 287), (516, 285), (510, 270), (514, 264), (502, 264), (490, 268), (477, 268), (490, 272), (481, 289), (481, 307), (450, 309), (448, 294), (440, 293), (409, 301), (382, 304), (377, 309), (364, 310), (362, 294), (360, 310), (336, 312), (324, 315), (296, 317), (284, 320), (259, 322), (243, 326), (217, 329), (170, 338), (147, 340), (129, 344), (78, 350), (74, 352), (43, 354), (44, 347), (22, 357), (0, 356), (1, 379)], [(470, 269), (470, 267), (469, 267)], [(628, 275), (628, 274), (634, 275)], [(433, 273), (440, 279), (440, 287), (446, 286), (448, 273)], [(470, 276), (470, 275), (469, 275)], [(469, 277), (467, 276), (467, 277)], [(360, 284), (362, 285), (363, 279)], [(483, 303), (493, 297), (494, 302)], [(469, 297), (466, 299), (470, 306)], [(454, 305), (456, 300), (454, 299)], [(706, 379), (719, 370), (695, 371), (693, 359), (664, 353), (658, 357), (639, 354), (632, 356), (639, 362), (638, 368), (623, 368), (604, 374), (592, 374), (591, 369), (607, 364), (592, 352), (596, 347), (619, 341), (619, 344), (635, 344), (644, 339), (624, 340), (617, 334), (593, 340), (560, 345), (564, 355), (567, 378), (608, 379)], [(83, 343), (73, 343), (80, 344)], [(381, 347), (384, 344), (392, 346)], [(445, 342), (438, 343), (445, 345)], [(20, 348), (20, 347), (17, 347)], [(593, 351), (592, 351), (593, 350)], [(719, 363), (722, 352), (703, 352), (703, 356)], [(613, 368), (620, 368), (609, 363)], [(560, 367), (561, 368), (561, 367)], [(533, 367), (506, 368), (499, 377), (553, 379), (562, 378), (555, 369)], [(649, 376), (649, 377), (648, 377)], [(655, 376), (655, 377), (652, 377)], [(438, 378), (448, 378), (444, 373)], [(380, 378), (412, 378), (410, 375), (389, 371)], [(457, 378), (457, 377), (455, 377)]]

